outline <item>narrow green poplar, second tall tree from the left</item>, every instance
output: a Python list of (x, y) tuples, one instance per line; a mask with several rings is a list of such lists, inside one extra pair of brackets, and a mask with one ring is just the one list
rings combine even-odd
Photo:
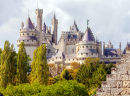
[(28, 56), (24, 47), (24, 42), (20, 43), (17, 56), (17, 84), (27, 82)]

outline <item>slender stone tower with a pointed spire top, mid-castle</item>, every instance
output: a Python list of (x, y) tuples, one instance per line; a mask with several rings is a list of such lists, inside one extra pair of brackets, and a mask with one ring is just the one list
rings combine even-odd
[(53, 16), (53, 19), (51, 20), (52, 24), (52, 41), (57, 44), (57, 25), (58, 25), (58, 20), (55, 17), (55, 14)]

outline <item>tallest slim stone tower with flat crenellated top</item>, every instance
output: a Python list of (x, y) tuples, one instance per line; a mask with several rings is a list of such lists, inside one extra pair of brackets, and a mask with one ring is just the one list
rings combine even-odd
[(42, 44), (42, 9), (36, 9), (36, 16), (37, 16), (37, 31), (39, 33), (38, 40), (39, 40), (39, 46)]

